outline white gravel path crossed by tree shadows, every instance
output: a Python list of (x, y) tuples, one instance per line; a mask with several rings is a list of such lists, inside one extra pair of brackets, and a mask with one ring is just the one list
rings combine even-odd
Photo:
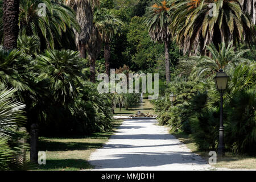
[(92, 153), (96, 170), (209, 170), (213, 169), (185, 144), (157, 126), (155, 119), (126, 119), (108, 143)]

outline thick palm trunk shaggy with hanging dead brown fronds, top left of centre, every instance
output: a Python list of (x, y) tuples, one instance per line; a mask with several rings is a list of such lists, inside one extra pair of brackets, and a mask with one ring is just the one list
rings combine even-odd
[(93, 31), (93, 9), (98, 4), (98, 0), (65, 0), (65, 3), (76, 11), (76, 20), (81, 31), (75, 30), (76, 46), (80, 55), (86, 58), (86, 44)]

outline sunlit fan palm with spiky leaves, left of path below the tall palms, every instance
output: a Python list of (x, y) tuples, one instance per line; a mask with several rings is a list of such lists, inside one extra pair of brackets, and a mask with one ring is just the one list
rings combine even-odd
[(63, 105), (69, 103), (77, 96), (77, 77), (82, 76), (82, 60), (79, 52), (71, 50), (46, 50), (36, 59), (42, 74), (37, 81), (44, 78), (51, 80), (51, 90), (55, 101)]

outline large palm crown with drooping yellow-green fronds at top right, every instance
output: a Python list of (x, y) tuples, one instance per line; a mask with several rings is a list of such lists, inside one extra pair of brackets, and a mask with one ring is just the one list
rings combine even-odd
[[(213, 13), (212, 3), (216, 5)], [(170, 27), (183, 53), (196, 53), (199, 48), (201, 55), (205, 55), (210, 43), (218, 47), (233, 40), (236, 46), (245, 40), (250, 45), (255, 39), (250, 19), (242, 13), (238, 1), (177, 1), (174, 9)]]

